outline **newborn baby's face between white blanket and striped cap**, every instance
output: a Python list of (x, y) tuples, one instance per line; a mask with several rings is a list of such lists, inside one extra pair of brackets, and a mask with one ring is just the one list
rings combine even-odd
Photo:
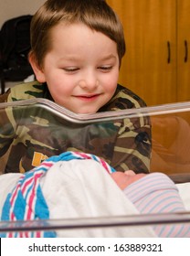
[(133, 182), (139, 180), (145, 174), (135, 174), (133, 171), (129, 170), (124, 173), (115, 172), (111, 174), (112, 179), (117, 183), (117, 185), (123, 190), (125, 187), (129, 186)]

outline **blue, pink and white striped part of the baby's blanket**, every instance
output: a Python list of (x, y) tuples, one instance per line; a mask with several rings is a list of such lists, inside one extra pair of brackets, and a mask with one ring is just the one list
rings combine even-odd
[[(34, 220), (34, 219), (49, 219), (49, 210), (46, 199), (43, 196), (42, 189), (39, 185), (41, 176), (47, 173), (47, 170), (59, 161), (70, 161), (73, 159), (93, 159), (100, 163), (108, 172), (115, 170), (105, 161), (96, 155), (66, 152), (61, 155), (55, 155), (48, 158), (41, 165), (33, 170), (22, 175), (16, 187), (8, 194), (5, 200), (5, 205), (2, 210), (1, 220)], [(7, 237), (55, 237), (55, 232), (32, 232), (32, 233), (7, 233)]]

